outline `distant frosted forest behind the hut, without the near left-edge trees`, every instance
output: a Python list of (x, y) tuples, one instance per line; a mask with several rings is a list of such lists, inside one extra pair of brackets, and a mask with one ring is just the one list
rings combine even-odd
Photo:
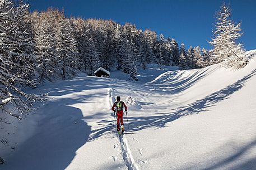
[(27, 17), (40, 82), (52, 81), (56, 75), (67, 79), (81, 70), (94, 75), (98, 67), (116, 67), (134, 77), (138, 67), (146, 69), (151, 62), (181, 69), (211, 64), (208, 50), (186, 50), (174, 38), (139, 30), (131, 23), (122, 26), (111, 20), (67, 18), (63, 11), (53, 8), (32, 12)]

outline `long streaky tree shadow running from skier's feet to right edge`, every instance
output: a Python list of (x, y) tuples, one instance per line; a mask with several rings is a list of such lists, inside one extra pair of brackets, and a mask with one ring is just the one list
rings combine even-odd
[[(212, 106), (215, 106), (216, 103), (228, 99), (231, 94), (234, 94), (236, 91), (243, 88), (246, 81), (248, 81), (252, 76), (256, 74), (256, 69), (252, 71), (249, 75), (243, 77), (236, 81), (234, 84), (227, 86), (224, 89), (212, 93), (204, 99), (190, 103), (187, 106), (181, 106), (176, 110), (171, 110), (170, 113), (161, 113), (161, 115), (154, 116), (133, 116), (129, 117), (129, 128), (131, 132), (137, 132), (144, 128), (162, 128), (165, 127), (166, 123), (173, 122), (181, 118), (182, 116), (198, 114), (203, 111), (208, 111)], [(92, 130), (92, 134), (89, 140), (94, 140), (101, 137), (106, 132), (111, 131), (113, 128), (113, 119), (112, 120), (101, 120), (98, 122), (101, 125), (104, 125), (103, 128)], [(127, 123), (125, 114), (124, 114), (124, 124)], [(115, 126), (114, 126), (115, 128)]]

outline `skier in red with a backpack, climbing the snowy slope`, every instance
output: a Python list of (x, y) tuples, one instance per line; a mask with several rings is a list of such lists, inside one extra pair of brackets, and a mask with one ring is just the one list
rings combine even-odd
[(123, 123), (123, 106), (125, 111), (127, 111), (127, 106), (124, 104), (123, 101), (120, 101), (120, 96), (117, 96), (117, 101), (115, 101), (114, 105), (112, 106), (111, 110), (114, 112), (117, 111), (117, 132), (120, 133), (120, 123), (121, 123), (121, 131), (124, 133), (124, 123)]

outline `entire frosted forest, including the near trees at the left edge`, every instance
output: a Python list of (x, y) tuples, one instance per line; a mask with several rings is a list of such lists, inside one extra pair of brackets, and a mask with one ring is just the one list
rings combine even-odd
[(30, 13), (28, 8), (22, 1), (0, 2), (0, 108), (17, 118), (44, 100), (23, 87), (56, 77), (68, 79), (80, 71), (94, 75), (98, 67), (116, 67), (138, 80), (138, 67), (146, 69), (152, 62), (182, 69), (211, 64), (207, 50), (187, 51), (174, 39), (138, 30), (131, 23), (67, 18), (53, 8)]

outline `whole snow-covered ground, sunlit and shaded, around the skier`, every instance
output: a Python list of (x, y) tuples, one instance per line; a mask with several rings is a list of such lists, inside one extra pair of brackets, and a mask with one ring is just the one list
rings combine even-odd
[[(1, 124), (12, 142), (0, 169), (256, 169), (255, 52), (238, 71), (152, 66), (139, 83), (113, 71), (42, 86), (36, 114)], [(136, 98), (123, 138), (111, 133), (118, 95)]]

